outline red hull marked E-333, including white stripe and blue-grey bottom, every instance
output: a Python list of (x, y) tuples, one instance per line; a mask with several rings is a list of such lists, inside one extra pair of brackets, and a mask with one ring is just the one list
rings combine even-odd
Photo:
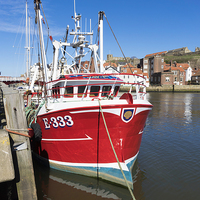
[(99, 106), (40, 114), (37, 122), (42, 130), (42, 140), (39, 143), (32, 142), (34, 153), (54, 169), (100, 177), (126, 186), (120, 163), (132, 188), (131, 167), (137, 158), (151, 107), (151, 104), (102, 106), (108, 132)]

